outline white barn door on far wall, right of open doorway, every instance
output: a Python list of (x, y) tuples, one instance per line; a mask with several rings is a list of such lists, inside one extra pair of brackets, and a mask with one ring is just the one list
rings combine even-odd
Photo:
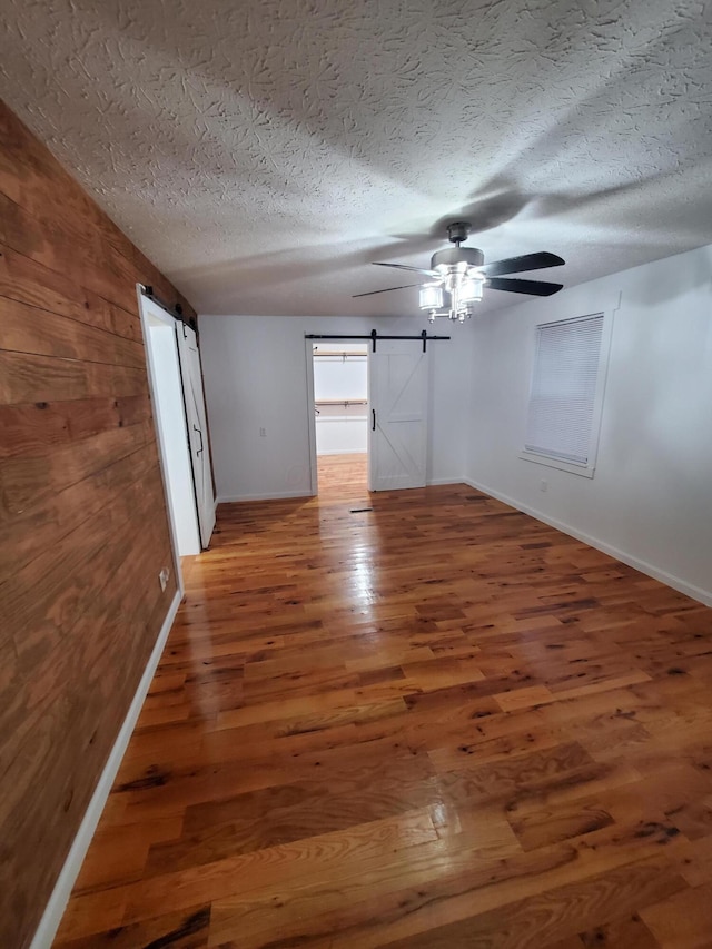
[(419, 340), (383, 339), (368, 354), (368, 490), (424, 487), (428, 354)]

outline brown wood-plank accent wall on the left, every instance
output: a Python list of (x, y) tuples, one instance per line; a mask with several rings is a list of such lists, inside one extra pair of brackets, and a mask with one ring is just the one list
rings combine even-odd
[(137, 281), (194, 315), (0, 103), (0, 946), (17, 949), (176, 591)]

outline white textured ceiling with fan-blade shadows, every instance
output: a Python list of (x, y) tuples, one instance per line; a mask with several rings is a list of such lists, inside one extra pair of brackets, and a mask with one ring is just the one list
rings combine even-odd
[[(3, 0), (0, 96), (200, 313), (413, 314), (712, 243), (712, 0)], [(523, 298), (491, 290), (483, 309)]]

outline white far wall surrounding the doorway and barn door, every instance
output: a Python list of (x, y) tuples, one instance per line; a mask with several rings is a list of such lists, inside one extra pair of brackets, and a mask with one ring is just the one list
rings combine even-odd
[[(443, 325), (445, 324), (445, 325)], [(432, 343), (428, 482), (462, 481), (471, 326), (423, 317), (200, 316), (218, 500), (310, 493), (306, 333), (451, 336)], [(417, 344), (414, 344), (417, 345)], [(260, 436), (260, 428), (265, 435)]]

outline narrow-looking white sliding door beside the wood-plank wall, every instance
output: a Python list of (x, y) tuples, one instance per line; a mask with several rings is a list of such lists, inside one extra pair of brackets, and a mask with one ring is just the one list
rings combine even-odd
[(210, 469), (210, 448), (208, 446), (208, 423), (202, 395), (202, 370), (198, 338), (194, 329), (179, 323), (178, 353), (180, 355), (180, 375), (186, 399), (188, 422), (188, 442), (190, 462), (196, 488), (196, 505), (200, 525), (200, 542), (206, 548), (210, 543), (215, 527), (215, 495), (212, 493), (212, 472)]

